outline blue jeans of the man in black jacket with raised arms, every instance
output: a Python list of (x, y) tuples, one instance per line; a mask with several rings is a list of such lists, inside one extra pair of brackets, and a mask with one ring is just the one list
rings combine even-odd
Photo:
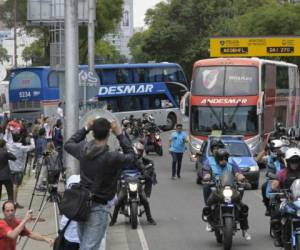
[(106, 205), (93, 203), (89, 218), (78, 222), (80, 250), (99, 250), (108, 221)]

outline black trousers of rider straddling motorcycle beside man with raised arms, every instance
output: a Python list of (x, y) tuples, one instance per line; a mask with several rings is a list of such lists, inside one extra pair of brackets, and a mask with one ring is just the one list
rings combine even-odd
[[(140, 187), (138, 192), (139, 192), (140, 202), (144, 206), (144, 209), (145, 209), (145, 214), (146, 214), (147, 220), (151, 220), (152, 215), (151, 215), (150, 205), (147, 200), (146, 194), (142, 187)], [(111, 218), (111, 220), (113, 222), (117, 221), (119, 210), (124, 205), (125, 199), (126, 199), (126, 190), (124, 188), (121, 188), (120, 192), (118, 193), (118, 202), (115, 205), (114, 213)]]

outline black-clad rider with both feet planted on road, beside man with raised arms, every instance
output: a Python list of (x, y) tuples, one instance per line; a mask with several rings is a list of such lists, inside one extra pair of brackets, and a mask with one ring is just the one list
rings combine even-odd
[[(151, 195), (152, 184), (156, 184), (156, 174), (154, 170), (154, 164), (153, 161), (143, 157), (144, 145), (141, 142), (134, 143), (133, 147), (137, 154), (138, 159), (136, 160), (133, 166), (126, 166), (123, 168), (123, 170), (138, 170), (145, 178), (145, 188), (140, 186), (141, 188), (138, 190), (139, 197), (140, 197), (141, 204), (144, 206), (147, 221), (151, 225), (156, 225), (156, 222), (151, 215), (149, 201), (147, 200), (147, 198), (150, 198)], [(152, 167), (150, 166), (151, 167), (150, 168), (149, 165), (152, 165)], [(121, 188), (121, 190), (118, 193), (118, 201), (115, 204), (113, 216), (109, 224), (110, 226), (113, 226), (116, 223), (119, 210), (124, 205), (125, 199), (126, 199), (126, 190), (124, 190), (124, 188)]]

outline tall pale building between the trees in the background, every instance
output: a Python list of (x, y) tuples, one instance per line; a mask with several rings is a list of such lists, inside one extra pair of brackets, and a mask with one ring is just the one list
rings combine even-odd
[(114, 45), (120, 54), (131, 58), (130, 50), (127, 47), (130, 38), (133, 35), (133, 0), (124, 0), (123, 18), (119, 28), (115, 33), (108, 34), (105, 40)]

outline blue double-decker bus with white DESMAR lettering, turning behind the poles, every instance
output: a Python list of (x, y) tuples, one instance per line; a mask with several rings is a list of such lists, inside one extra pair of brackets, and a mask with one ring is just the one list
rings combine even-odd
[[(79, 74), (87, 71), (79, 66)], [(83, 105), (80, 86), (80, 113), (109, 107), (121, 120), (151, 113), (159, 126), (171, 129), (181, 120), (179, 102), (188, 90), (182, 68), (176, 63), (103, 64), (95, 72), (101, 85), (88, 88)], [(64, 71), (50, 67), (27, 67), (12, 71), (9, 83), (11, 117), (34, 119), (53, 116), (64, 100)]]

